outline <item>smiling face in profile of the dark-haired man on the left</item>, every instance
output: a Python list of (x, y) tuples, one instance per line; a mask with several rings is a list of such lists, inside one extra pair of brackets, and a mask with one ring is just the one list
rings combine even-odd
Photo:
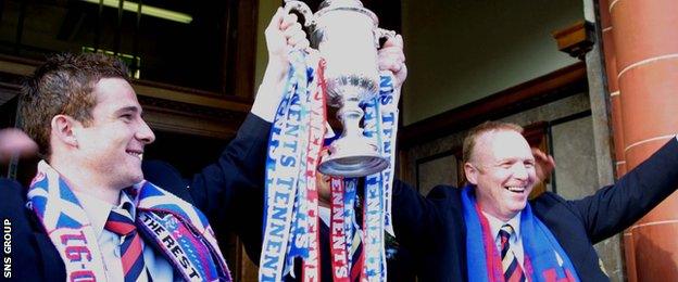
[(143, 179), (143, 146), (155, 136), (141, 118), (141, 105), (131, 86), (121, 78), (103, 78), (96, 85), (97, 104), (88, 127), (75, 127), (84, 169), (103, 183), (126, 188)]

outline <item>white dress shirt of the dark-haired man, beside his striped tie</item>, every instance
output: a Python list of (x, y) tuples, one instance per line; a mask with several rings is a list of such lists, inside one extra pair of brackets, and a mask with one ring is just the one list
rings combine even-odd
[[(74, 193), (80, 202), (83, 209), (85, 209), (85, 213), (89, 217), (92, 228), (95, 229), (97, 242), (99, 243), (99, 249), (101, 251), (101, 256), (103, 257), (103, 268), (106, 274), (106, 280), (125, 281), (123, 261), (121, 260), (121, 236), (105, 230), (104, 226), (109, 219), (111, 209), (123, 208), (125, 203), (128, 203), (127, 205), (131, 207), (131, 210), (127, 209), (127, 211), (129, 211), (134, 218), (136, 216), (134, 203), (125, 193), (121, 193), (121, 204), (117, 207), (85, 193), (78, 193), (75, 191)], [(172, 265), (170, 265), (163, 255), (155, 252), (152, 247), (146, 247), (143, 240), (141, 240), (141, 247), (143, 248), (143, 262), (149, 274), (151, 275), (151, 279), (153, 281), (175, 281)], [(148, 277), (145, 273), (141, 273), (137, 281), (147, 282)]]

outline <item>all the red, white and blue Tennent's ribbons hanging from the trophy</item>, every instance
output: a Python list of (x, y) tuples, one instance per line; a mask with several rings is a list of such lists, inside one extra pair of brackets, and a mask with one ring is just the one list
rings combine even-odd
[[(274, 118), (266, 159), (264, 242), (260, 281), (281, 281), (301, 274), (302, 281), (319, 281), (318, 194), (315, 179), (326, 132), (324, 60), (317, 52), (292, 51), (290, 72)], [(353, 205), (357, 179), (334, 179), (330, 252), (334, 281), (349, 281), (355, 264), (361, 281), (386, 280), (385, 230), (392, 233), (390, 198), (398, 128), (393, 76), (381, 74), (379, 94), (361, 105), (364, 134), (391, 165), (365, 178), (363, 222), (355, 222)], [(362, 228), (362, 232), (354, 232)], [(362, 236), (362, 255), (352, 259), (353, 236)], [(293, 273), (294, 258), (302, 258), (302, 273)], [(356, 261), (352, 261), (356, 260)]]

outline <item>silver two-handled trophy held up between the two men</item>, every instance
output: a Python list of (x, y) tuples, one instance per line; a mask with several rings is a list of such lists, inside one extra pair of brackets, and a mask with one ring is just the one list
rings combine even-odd
[(374, 99), (379, 91), (377, 49), (379, 39), (395, 33), (378, 28), (379, 20), (357, 0), (326, 0), (313, 14), (300, 1), (286, 1), (285, 10), (303, 15), (310, 29), (311, 46), (325, 59), (327, 103), (339, 107), (343, 125), (341, 137), (329, 146), (318, 169), (330, 176), (363, 177), (388, 167), (378, 146), (363, 136), (359, 104)]

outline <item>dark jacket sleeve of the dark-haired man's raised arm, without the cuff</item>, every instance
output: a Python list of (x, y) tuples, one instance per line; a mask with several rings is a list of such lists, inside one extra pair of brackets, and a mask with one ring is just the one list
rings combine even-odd
[[(194, 205), (214, 226), (226, 227), (259, 261), (264, 205), (264, 162), (271, 124), (250, 114), (218, 161), (189, 183)], [(217, 229), (218, 230), (218, 229)]]

